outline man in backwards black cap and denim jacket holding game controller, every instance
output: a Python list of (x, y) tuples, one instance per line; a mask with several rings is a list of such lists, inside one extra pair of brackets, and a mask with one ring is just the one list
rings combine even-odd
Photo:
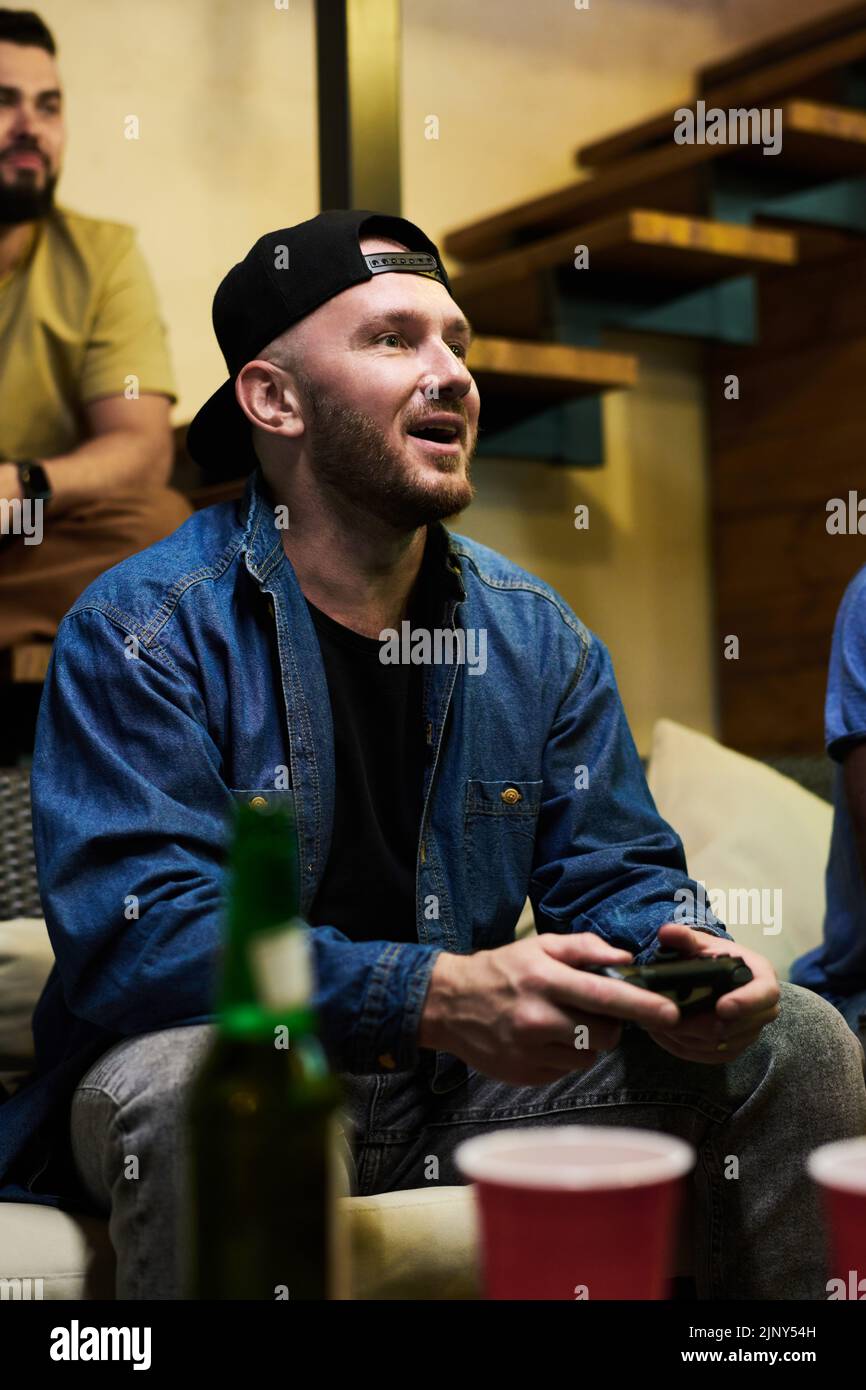
[[(862, 1049), (741, 947), (752, 983), (691, 1022), (584, 969), (734, 948), (605, 644), (442, 525), (473, 498), (480, 398), (436, 247), (322, 213), (228, 272), (214, 328), (229, 375), (189, 446), (252, 468), (243, 500), (101, 575), (54, 645), (32, 790), (57, 965), (39, 1073), (0, 1108), (3, 1195), (110, 1211), (118, 1295), (178, 1297), (227, 810), (286, 798), (354, 1191), (420, 1187), (431, 1154), (460, 1183), (457, 1143), (516, 1119), (663, 1129), (699, 1151), (699, 1297), (826, 1297), (805, 1159), (866, 1127)], [(527, 894), (538, 934), (514, 941)]]

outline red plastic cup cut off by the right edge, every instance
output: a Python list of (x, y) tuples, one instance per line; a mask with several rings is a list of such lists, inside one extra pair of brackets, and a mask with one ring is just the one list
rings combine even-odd
[(824, 1197), (827, 1297), (866, 1298), (866, 1138), (822, 1144), (809, 1154), (806, 1168)]

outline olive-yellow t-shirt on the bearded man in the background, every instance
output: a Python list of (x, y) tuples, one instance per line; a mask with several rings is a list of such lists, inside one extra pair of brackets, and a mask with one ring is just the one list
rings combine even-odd
[(135, 232), (56, 206), (0, 275), (0, 459), (75, 449), (88, 402), (135, 391), (177, 400)]

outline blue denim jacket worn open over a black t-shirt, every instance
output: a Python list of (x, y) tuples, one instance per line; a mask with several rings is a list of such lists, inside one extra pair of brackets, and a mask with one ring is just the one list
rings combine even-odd
[[(240, 502), (114, 566), (60, 624), (32, 769), (56, 965), (33, 1016), (36, 1076), (0, 1106), (0, 1182), (25, 1147), (28, 1169), (49, 1162), (51, 1120), (63, 1144), (75, 1081), (113, 1041), (213, 1020), (232, 796), (293, 806), (302, 915), (316, 897), (334, 812), (331, 708), (277, 520), (257, 471)], [(442, 627), (474, 632), (475, 651), (482, 634), (485, 666), (423, 673), (417, 942), (353, 942), (313, 923), (314, 1002), (338, 1070), (424, 1063), (448, 1091), (466, 1065), (417, 1045), (434, 962), (512, 941), (527, 895), (539, 931), (594, 931), (638, 960), (678, 905), (676, 920), (727, 933), (702, 915), (656, 810), (605, 644), (542, 580), (438, 523), (432, 532)], [(674, 899), (681, 888), (694, 913)], [(36, 1176), (15, 1195), (53, 1201)]]

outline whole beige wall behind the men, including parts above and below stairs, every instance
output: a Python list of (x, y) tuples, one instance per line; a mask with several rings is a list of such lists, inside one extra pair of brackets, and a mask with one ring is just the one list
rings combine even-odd
[[(405, 0), (403, 211), (434, 239), (575, 177), (577, 145), (835, 0)], [(43, 0), (70, 150), (61, 200), (138, 227), (186, 420), (222, 378), (210, 302), (261, 232), (318, 210), (311, 0)], [(138, 142), (124, 118), (140, 120)], [(430, 114), (439, 139), (424, 138)], [(641, 752), (659, 716), (712, 733), (703, 404), (692, 349), (610, 336), (641, 384), (605, 406), (606, 467), (477, 464), (457, 530), (552, 582), (610, 646)], [(574, 506), (588, 502), (588, 532)]]

